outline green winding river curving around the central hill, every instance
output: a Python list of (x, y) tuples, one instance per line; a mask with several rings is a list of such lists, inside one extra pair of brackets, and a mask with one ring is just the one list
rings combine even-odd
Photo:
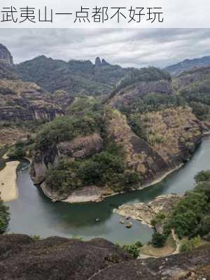
[[(151, 240), (152, 230), (138, 221), (132, 221), (130, 229), (119, 223), (118, 214), (113, 208), (127, 202), (149, 202), (158, 195), (167, 193), (185, 193), (193, 188), (193, 177), (201, 170), (210, 169), (210, 138), (204, 139), (193, 158), (179, 171), (155, 186), (123, 195), (109, 197), (99, 203), (66, 204), (51, 202), (34, 186), (29, 170), (18, 171), (17, 185), (19, 198), (8, 202), (10, 207), (10, 232), (25, 233), (48, 237), (83, 237), (92, 239), (104, 237), (113, 242), (128, 244)], [(96, 223), (99, 218), (100, 223)]]

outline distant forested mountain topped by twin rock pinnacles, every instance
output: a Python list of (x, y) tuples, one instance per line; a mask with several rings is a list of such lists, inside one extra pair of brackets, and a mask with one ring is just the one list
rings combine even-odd
[(18, 64), (17, 71), (22, 80), (37, 83), (48, 92), (65, 90), (76, 96), (108, 94), (130, 69), (111, 65), (99, 57), (92, 64), (90, 60), (64, 62), (42, 55)]

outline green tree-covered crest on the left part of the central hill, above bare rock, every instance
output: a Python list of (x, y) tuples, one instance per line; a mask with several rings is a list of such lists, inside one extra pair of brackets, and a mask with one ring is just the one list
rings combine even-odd
[[(95, 107), (94, 107), (95, 106)], [(55, 118), (38, 132), (35, 148), (45, 150), (61, 141), (70, 141), (103, 130), (102, 111), (91, 97), (80, 97), (69, 106), (67, 116)]]

